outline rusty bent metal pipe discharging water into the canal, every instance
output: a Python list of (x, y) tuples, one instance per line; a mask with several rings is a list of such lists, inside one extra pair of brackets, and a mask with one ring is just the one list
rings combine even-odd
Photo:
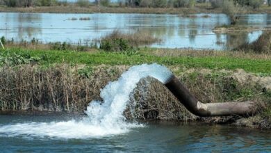
[(255, 102), (224, 102), (204, 104), (199, 102), (174, 75), (165, 86), (191, 113), (201, 116), (252, 115)]

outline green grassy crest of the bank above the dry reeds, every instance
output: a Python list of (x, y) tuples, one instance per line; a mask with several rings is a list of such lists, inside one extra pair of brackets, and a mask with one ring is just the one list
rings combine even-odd
[[(172, 51), (172, 52), (170, 52)], [(58, 51), (58, 50), (29, 50), (9, 49), (1, 51), (4, 57), (22, 56), (29, 62), (40, 65), (52, 63), (87, 64), (87, 65), (138, 65), (142, 63), (158, 63), (162, 65), (179, 65), (183, 68), (208, 68), (236, 70), (238, 68), (247, 72), (271, 75), (270, 55), (255, 55), (238, 52), (217, 51), (176, 51), (163, 49), (140, 49), (128, 53), (108, 53), (101, 50), (91, 52)], [(167, 54), (178, 54), (168, 56)], [(164, 55), (163, 55), (164, 54)], [(185, 55), (185, 56), (182, 56)], [(31, 61), (31, 59), (35, 59)], [(3, 61), (1, 62), (3, 63)], [(17, 64), (15, 60), (13, 65)]]

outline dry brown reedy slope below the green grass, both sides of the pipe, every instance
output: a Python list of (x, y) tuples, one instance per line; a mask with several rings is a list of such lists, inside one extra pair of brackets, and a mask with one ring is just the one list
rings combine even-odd
[[(129, 66), (86, 66), (19, 65), (1, 67), (0, 109), (5, 111), (53, 111), (83, 113), (86, 106), (99, 97), (100, 89), (108, 81), (114, 81)], [(203, 103), (242, 102), (253, 100), (264, 104), (259, 114), (261, 120), (270, 117), (270, 90), (263, 90), (258, 80), (245, 83), (236, 79), (236, 72), (192, 69), (179, 71), (179, 66), (170, 69), (184, 83), (197, 99)], [(240, 76), (241, 74), (238, 74)], [(250, 77), (249, 77), (250, 76)], [(258, 77), (266, 79), (265, 77)], [(264, 83), (267, 84), (267, 83)], [(180, 102), (155, 79), (142, 79), (132, 93), (130, 105), (124, 112), (126, 118), (140, 120), (204, 120), (205, 122), (229, 122), (243, 118), (198, 118), (192, 115)], [(250, 119), (247, 119), (250, 120)], [(261, 127), (261, 120), (256, 124)], [(266, 119), (269, 120), (269, 119)], [(267, 121), (269, 123), (269, 121)], [(266, 124), (265, 124), (266, 125)]]

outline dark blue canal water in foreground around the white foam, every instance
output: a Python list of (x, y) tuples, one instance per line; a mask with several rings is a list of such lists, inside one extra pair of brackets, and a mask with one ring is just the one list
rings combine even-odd
[[(53, 124), (81, 120), (61, 115), (0, 115), (0, 127), (14, 124)], [(1, 152), (270, 152), (271, 132), (227, 125), (141, 123), (141, 127), (107, 136), (58, 138), (42, 134), (0, 131)], [(23, 129), (31, 131), (32, 129)], [(80, 128), (78, 132), (80, 133)], [(60, 129), (51, 129), (60, 131)], [(46, 136), (47, 135), (47, 136)]]

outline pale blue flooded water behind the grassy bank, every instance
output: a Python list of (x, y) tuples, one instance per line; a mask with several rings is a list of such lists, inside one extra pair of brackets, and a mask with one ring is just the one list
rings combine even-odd
[[(163, 42), (151, 47), (229, 49), (252, 42), (261, 31), (240, 35), (215, 34), (215, 26), (229, 24), (222, 14), (211, 17), (179, 17), (178, 15), (140, 14), (46, 14), (46, 13), (0, 13), (0, 36), (8, 39), (43, 42), (93, 40), (119, 29), (123, 32), (143, 32), (161, 38)], [(199, 14), (198, 16), (202, 16)], [(80, 17), (90, 17), (88, 21)], [(72, 20), (76, 18), (77, 20)], [(243, 15), (241, 25), (270, 26), (270, 14)]]

